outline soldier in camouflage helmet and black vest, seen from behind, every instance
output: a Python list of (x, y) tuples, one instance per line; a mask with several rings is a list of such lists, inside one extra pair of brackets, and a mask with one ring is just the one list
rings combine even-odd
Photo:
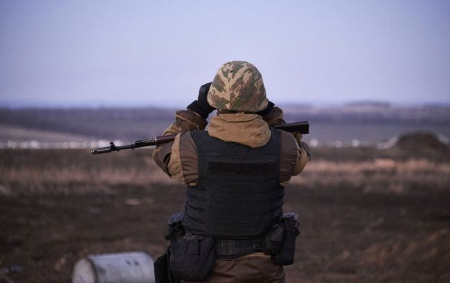
[(170, 246), (170, 270), (183, 282), (285, 282), (273, 260), (283, 245), (277, 223), (285, 186), (303, 170), (309, 149), (300, 134), (271, 128), (285, 123), (282, 116), (258, 69), (231, 61), (165, 130), (178, 135), (155, 148), (153, 159), (187, 185), (178, 217), (184, 236)]

